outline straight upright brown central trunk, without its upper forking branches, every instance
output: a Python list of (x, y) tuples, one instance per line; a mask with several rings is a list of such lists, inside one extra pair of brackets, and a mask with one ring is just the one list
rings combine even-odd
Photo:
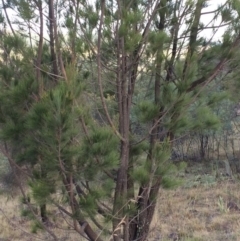
[[(119, 71), (117, 76), (118, 86), (118, 109), (119, 109), (119, 133), (123, 137), (120, 147), (120, 167), (117, 173), (117, 184), (114, 197), (114, 209), (113, 215), (115, 221), (113, 222), (114, 241), (121, 239), (122, 225), (120, 223), (125, 222), (124, 209), (127, 206), (127, 178), (128, 178), (128, 166), (129, 166), (129, 97), (127, 93), (127, 57), (124, 53), (124, 39), (121, 38), (118, 43), (119, 50)], [(122, 55), (122, 57), (120, 57)], [(128, 224), (125, 224), (125, 228)], [(124, 240), (128, 240), (128, 234), (124, 232)]]

